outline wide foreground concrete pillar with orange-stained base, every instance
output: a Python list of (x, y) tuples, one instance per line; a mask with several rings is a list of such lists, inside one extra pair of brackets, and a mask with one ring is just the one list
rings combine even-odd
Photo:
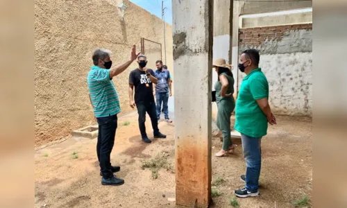
[(172, 1), (176, 204), (208, 207), (211, 198), (213, 0)]

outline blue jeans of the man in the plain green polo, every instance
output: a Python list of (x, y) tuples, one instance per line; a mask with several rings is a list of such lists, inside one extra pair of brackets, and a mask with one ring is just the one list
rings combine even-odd
[(246, 186), (249, 191), (259, 188), (260, 167), (262, 165), (262, 137), (254, 138), (241, 134), (242, 150), (246, 160)]

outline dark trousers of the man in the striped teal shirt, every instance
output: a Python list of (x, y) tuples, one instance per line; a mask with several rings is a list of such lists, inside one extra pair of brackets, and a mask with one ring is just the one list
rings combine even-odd
[(117, 114), (97, 118), (99, 123), (98, 143), (96, 153), (98, 154), (99, 164), (103, 178), (112, 177), (110, 155), (115, 144), (117, 130)]

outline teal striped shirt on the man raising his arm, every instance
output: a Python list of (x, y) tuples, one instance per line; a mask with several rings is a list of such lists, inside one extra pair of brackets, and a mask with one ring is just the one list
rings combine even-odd
[(116, 87), (110, 80), (110, 70), (92, 66), (87, 83), (96, 118), (121, 112)]

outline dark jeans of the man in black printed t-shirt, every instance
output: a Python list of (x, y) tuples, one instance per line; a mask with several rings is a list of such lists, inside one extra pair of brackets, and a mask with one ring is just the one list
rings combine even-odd
[(149, 114), (149, 117), (151, 118), (152, 127), (154, 135), (158, 135), (159, 129), (158, 129), (158, 119), (155, 112), (155, 103), (142, 103), (136, 104), (137, 106), (137, 112), (139, 113), (139, 131), (141, 132), (141, 137), (146, 138), (146, 125), (144, 124), (146, 122), (146, 112)]

